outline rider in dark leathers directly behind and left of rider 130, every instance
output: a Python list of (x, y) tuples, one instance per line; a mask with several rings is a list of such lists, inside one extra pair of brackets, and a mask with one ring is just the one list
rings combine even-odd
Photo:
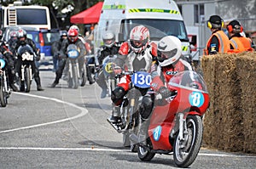
[(103, 37), (104, 45), (102, 45), (96, 55), (96, 83), (102, 88), (101, 98), (105, 98), (107, 95), (107, 82), (105, 80), (104, 72), (102, 70), (102, 61), (109, 55), (115, 55), (119, 53), (119, 46), (115, 43), (115, 36), (113, 32), (107, 31)]

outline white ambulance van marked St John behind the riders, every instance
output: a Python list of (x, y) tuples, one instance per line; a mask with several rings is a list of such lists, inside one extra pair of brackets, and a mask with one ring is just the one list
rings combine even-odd
[(183, 54), (190, 54), (183, 17), (172, 0), (105, 0), (95, 31), (95, 47), (102, 44), (106, 31), (113, 31), (117, 42), (126, 41), (135, 25), (148, 27), (151, 41), (166, 35), (178, 37), (183, 42)]

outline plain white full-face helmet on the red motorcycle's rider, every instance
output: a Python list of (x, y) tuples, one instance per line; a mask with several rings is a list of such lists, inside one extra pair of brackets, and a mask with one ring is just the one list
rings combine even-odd
[(174, 36), (167, 36), (160, 39), (157, 45), (157, 59), (160, 66), (171, 65), (182, 55), (182, 43)]

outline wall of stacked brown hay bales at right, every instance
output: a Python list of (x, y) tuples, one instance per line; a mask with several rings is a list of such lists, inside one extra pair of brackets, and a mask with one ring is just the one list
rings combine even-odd
[(256, 153), (256, 53), (208, 55), (201, 66), (211, 99), (203, 143)]

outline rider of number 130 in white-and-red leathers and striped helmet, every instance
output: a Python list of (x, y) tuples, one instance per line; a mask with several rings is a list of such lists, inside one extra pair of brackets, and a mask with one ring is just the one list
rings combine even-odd
[[(156, 59), (156, 44), (150, 42), (148, 28), (143, 25), (137, 25), (131, 29), (130, 39), (128, 42), (122, 43), (119, 48), (119, 54), (125, 56), (125, 70), (150, 71), (152, 62)], [(113, 101), (113, 112), (108, 121), (112, 124), (118, 123), (120, 119), (120, 104), (125, 94), (130, 90), (131, 76), (123, 76), (120, 78), (119, 84), (113, 89), (111, 99)], [(144, 93), (142, 93), (144, 94)]]

